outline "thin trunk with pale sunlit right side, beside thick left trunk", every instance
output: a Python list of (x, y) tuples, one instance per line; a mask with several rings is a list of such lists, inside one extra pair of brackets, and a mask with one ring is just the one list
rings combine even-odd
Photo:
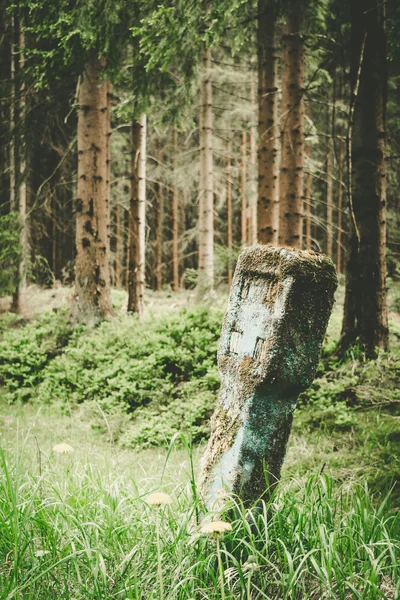
[(143, 315), (146, 234), (146, 116), (132, 124), (129, 211), (128, 312)]

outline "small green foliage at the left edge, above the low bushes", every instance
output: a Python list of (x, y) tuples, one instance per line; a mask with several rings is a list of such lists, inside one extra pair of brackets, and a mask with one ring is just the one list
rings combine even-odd
[(17, 286), (21, 261), (20, 231), (17, 213), (0, 217), (0, 296), (12, 294)]

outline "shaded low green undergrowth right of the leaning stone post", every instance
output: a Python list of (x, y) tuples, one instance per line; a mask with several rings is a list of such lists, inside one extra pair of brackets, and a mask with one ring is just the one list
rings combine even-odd
[[(391, 324), (390, 352), (367, 360), (358, 346), (344, 357), (325, 352), (301, 394), (294, 432), (315, 450), (301, 470), (325, 468), (344, 481), (367, 481), (378, 495), (392, 490), (400, 505), (400, 345)], [(307, 451), (305, 451), (307, 454)], [(297, 459), (299, 454), (297, 454)]]

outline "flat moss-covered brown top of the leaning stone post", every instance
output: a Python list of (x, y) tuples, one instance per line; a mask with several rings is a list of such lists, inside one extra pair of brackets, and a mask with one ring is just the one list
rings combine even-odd
[(244, 248), (240, 253), (236, 273), (254, 273), (314, 282), (330, 281), (337, 286), (333, 262), (325, 254), (297, 250), (286, 246), (257, 245)]

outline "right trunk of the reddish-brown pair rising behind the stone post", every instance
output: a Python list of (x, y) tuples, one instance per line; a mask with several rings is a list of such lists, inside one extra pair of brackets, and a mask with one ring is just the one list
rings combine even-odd
[(301, 3), (293, 3), (283, 36), (282, 162), (279, 243), (299, 248), (304, 156), (304, 42)]

